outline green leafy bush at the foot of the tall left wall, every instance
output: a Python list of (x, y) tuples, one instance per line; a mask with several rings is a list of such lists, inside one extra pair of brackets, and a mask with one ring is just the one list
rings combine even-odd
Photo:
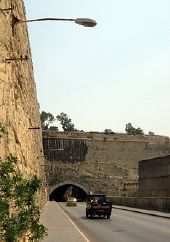
[(36, 176), (25, 179), (16, 169), (17, 162), (10, 155), (0, 163), (0, 240), (15, 242), (26, 237), (39, 241), (47, 234), (36, 205), (41, 181)]

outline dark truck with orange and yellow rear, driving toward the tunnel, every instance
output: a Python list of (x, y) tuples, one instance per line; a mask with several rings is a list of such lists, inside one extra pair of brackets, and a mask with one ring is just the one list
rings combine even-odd
[(87, 195), (86, 217), (103, 216), (110, 218), (112, 213), (112, 203), (108, 202), (105, 194)]

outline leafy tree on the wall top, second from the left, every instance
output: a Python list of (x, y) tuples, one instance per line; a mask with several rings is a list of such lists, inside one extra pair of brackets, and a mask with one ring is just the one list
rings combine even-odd
[(71, 122), (71, 119), (65, 113), (60, 113), (56, 116), (57, 120), (60, 122), (64, 132), (65, 131), (75, 131), (74, 124)]

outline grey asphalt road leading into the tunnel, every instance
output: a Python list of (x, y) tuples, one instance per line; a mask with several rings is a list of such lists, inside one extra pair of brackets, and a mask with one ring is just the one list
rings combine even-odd
[(170, 219), (113, 209), (110, 219), (85, 216), (85, 204), (60, 206), (90, 242), (170, 242)]

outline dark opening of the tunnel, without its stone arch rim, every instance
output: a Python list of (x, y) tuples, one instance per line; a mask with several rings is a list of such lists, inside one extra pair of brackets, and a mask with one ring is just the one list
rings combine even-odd
[(85, 201), (87, 193), (80, 187), (66, 184), (56, 188), (49, 197), (50, 201), (64, 202), (68, 196), (75, 197), (77, 201)]

